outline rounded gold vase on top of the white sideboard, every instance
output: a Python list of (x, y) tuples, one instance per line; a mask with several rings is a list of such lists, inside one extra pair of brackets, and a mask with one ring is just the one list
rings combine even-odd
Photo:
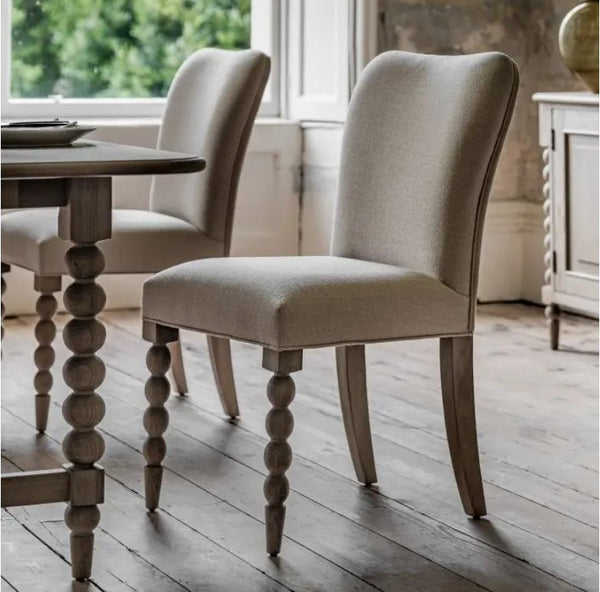
[(598, 0), (570, 10), (558, 32), (558, 48), (567, 68), (592, 92), (598, 92)]

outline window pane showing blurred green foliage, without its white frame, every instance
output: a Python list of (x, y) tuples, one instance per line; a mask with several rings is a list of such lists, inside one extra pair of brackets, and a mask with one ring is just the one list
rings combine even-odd
[(13, 0), (11, 96), (164, 97), (201, 47), (250, 47), (250, 0)]

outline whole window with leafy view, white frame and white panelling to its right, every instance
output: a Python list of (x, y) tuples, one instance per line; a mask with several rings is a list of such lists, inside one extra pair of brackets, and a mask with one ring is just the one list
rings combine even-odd
[(375, 0), (2, 0), (3, 117), (159, 117), (199, 47), (271, 56), (260, 115), (342, 122)]

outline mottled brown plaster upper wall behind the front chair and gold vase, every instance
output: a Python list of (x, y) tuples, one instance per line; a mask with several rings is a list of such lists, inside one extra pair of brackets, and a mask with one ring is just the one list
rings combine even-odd
[[(375, 0), (373, 0), (375, 1)], [(521, 88), (493, 199), (542, 201), (537, 91), (583, 90), (558, 54), (558, 27), (577, 0), (379, 0), (378, 49), (464, 54), (497, 50), (521, 71)]]

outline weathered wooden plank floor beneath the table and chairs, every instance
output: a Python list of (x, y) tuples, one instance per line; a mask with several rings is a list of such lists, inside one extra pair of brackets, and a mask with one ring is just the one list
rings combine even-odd
[[(598, 325), (572, 316), (552, 352), (540, 308), (486, 305), (475, 338), (488, 510), (463, 514), (446, 448), (435, 340), (367, 348), (380, 483), (359, 486), (340, 419), (332, 350), (295, 375), (292, 491), (282, 555), (264, 553), (264, 417), (258, 348), (235, 344), (242, 416), (223, 418), (200, 335), (184, 334), (190, 395), (168, 403), (162, 509), (142, 498), (146, 344), (135, 311), (103, 315), (106, 503), (93, 581), (70, 583), (61, 504), (2, 513), (2, 591), (550, 592), (598, 589)], [(62, 327), (65, 317), (59, 317)], [(66, 388), (36, 437), (34, 319), (6, 321), (3, 470), (61, 462)], [(57, 367), (66, 357), (57, 339)]]

